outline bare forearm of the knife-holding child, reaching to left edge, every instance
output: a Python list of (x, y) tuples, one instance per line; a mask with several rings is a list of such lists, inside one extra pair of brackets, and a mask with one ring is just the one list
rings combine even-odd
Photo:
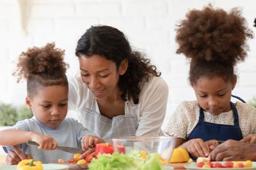
[(14, 146), (21, 143), (26, 143), (33, 139), (36, 134), (34, 132), (27, 132), (22, 130), (1, 130), (0, 131), (0, 145)]

